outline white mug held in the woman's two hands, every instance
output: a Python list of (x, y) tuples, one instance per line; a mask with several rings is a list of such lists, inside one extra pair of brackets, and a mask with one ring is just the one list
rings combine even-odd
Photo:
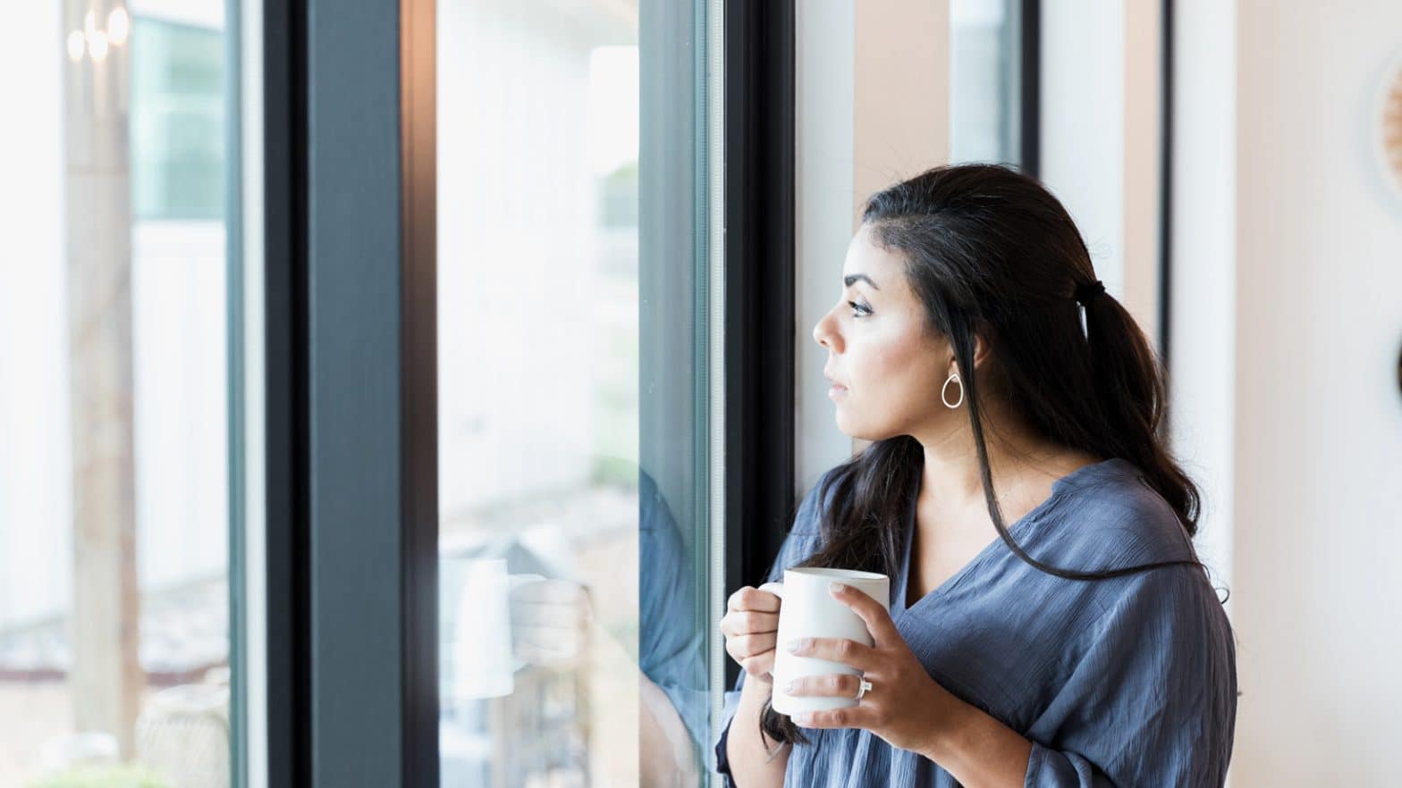
[(890, 578), (876, 572), (823, 568), (785, 569), (782, 583), (760, 586), (760, 590), (770, 592), (784, 600), (780, 606), (778, 645), (774, 649), (774, 670), (771, 672), (774, 697), (770, 705), (777, 712), (794, 715), (857, 705), (855, 697), (791, 697), (784, 691), (789, 681), (801, 676), (861, 674), (855, 667), (841, 662), (789, 653), (785, 648), (789, 641), (795, 638), (841, 638), (876, 645), (862, 617), (827, 590), (827, 585), (833, 582), (845, 583), (865, 593), (879, 602), (887, 613), (890, 611)]

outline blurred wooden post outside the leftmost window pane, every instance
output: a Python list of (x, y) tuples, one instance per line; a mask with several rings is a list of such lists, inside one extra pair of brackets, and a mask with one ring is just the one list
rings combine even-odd
[[(133, 754), (137, 662), (132, 415), (128, 50), (104, 41), (111, 0), (63, 0), (64, 206), (73, 443), (73, 670), (77, 731)], [(91, 22), (88, 14), (91, 13)], [(87, 29), (81, 53), (69, 41)], [(104, 48), (102, 45), (107, 43)]]

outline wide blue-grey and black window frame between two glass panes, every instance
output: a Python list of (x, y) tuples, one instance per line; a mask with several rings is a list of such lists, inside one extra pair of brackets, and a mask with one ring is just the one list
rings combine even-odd
[(433, 0), (265, 8), (268, 781), (437, 784)]

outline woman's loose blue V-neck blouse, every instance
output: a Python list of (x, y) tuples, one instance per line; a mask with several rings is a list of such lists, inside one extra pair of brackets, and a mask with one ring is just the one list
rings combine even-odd
[[(819, 489), (799, 506), (767, 580), (817, 550)], [(1026, 788), (1223, 785), (1237, 655), (1200, 569), (1068, 580), (994, 538), (939, 587), (907, 600), (914, 506), (907, 512), (890, 583), (896, 628), (942, 687), (1032, 742)], [(1064, 569), (1196, 558), (1168, 502), (1120, 458), (1061, 477), (1008, 531), (1028, 555)], [(716, 768), (732, 787), (725, 742), (744, 676), (725, 694), (715, 743)], [(932, 760), (866, 731), (802, 731), (810, 743), (791, 747), (785, 787), (959, 785)]]

